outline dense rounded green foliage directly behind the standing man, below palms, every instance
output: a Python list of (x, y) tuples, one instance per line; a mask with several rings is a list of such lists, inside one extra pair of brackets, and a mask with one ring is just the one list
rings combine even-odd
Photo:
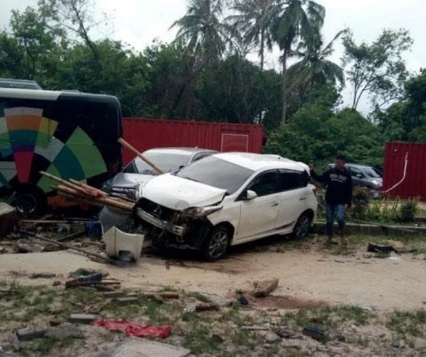
[(351, 162), (382, 165), (384, 140), (379, 128), (352, 109), (336, 113), (335, 99), (324, 88), (290, 123), (272, 132), (266, 151), (318, 167), (332, 162), (337, 153)]

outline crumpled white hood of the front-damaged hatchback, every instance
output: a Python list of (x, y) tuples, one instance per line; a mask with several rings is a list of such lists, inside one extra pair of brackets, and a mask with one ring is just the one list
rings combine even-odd
[(154, 177), (142, 190), (142, 197), (175, 211), (221, 202), (225, 189), (166, 174)]

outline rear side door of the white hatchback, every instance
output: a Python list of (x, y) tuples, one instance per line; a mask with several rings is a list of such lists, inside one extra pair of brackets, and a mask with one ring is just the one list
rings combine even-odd
[(310, 190), (308, 173), (280, 170), (281, 196), (277, 230), (289, 230), (295, 225), (300, 215), (308, 208)]

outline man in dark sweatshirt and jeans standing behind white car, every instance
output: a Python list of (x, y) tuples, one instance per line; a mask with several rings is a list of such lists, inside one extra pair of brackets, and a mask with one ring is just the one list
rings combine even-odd
[(314, 167), (310, 165), (311, 176), (314, 180), (327, 186), (325, 201), (327, 203), (327, 244), (332, 244), (334, 217), (339, 223), (341, 244), (347, 246), (345, 237), (345, 213), (346, 206), (352, 203), (352, 176), (345, 168), (346, 158), (343, 155), (336, 156), (334, 168), (327, 170), (322, 175), (317, 175)]

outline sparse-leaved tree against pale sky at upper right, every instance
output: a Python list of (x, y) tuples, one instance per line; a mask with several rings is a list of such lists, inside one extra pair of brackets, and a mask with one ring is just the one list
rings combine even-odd
[(358, 108), (364, 95), (370, 95), (375, 108), (383, 108), (401, 99), (403, 84), (408, 77), (402, 54), (413, 44), (406, 30), (384, 30), (367, 44), (356, 44), (353, 33), (343, 38), (343, 63), (349, 66), (348, 80), (353, 86), (352, 108)]

